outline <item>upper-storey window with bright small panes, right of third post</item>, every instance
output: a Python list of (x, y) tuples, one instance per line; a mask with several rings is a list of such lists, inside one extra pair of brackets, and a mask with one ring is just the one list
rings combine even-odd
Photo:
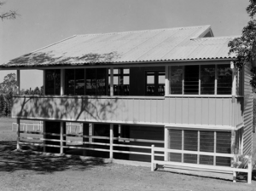
[[(110, 95), (110, 69), (108, 69), (108, 95)], [(113, 96), (130, 95), (130, 69), (113, 68)]]

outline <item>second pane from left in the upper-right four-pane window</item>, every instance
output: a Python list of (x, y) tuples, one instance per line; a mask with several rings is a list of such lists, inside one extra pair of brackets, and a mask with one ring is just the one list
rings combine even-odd
[(198, 95), (199, 93), (199, 66), (184, 67), (184, 94)]

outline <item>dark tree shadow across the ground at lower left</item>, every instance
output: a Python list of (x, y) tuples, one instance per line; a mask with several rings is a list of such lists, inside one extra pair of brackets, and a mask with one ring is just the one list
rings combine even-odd
[(0, 171), (30, 170), (46, 174), (72, 169), (84, 171), (96, 165), (106, 165), (102, 159), (79, 159), (46, 156), (32, 152), (14, 151), (16, 142), (0, 142)]

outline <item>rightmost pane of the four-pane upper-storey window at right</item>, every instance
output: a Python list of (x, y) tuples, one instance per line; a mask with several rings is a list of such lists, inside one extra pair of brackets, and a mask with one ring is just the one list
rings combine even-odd
[(218, 65), (218, 95), (230, 95), (232, 91), (232, 70), (229, 64)]

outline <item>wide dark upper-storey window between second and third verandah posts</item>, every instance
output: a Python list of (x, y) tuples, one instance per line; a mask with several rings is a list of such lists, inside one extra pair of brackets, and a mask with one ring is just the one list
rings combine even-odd
[(65, 70), (65, 95), (106, 96), (107, 69), (67, 69)]

